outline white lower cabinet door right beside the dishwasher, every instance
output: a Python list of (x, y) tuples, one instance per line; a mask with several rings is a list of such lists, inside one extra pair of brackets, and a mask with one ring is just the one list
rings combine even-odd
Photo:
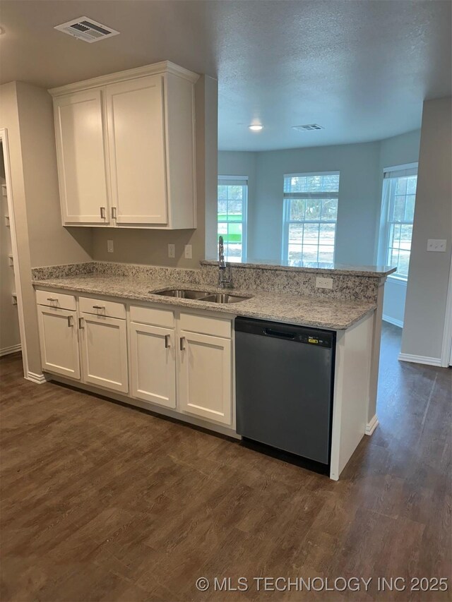
[(182, 411), (232, 424), (230, 339), (180, 331), (179, 402)]

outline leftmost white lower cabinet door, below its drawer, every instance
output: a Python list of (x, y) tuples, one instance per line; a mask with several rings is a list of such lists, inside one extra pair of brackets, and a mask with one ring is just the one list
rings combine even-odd
[(44, 371), (80, 378), (76, 312), (37, 306)]

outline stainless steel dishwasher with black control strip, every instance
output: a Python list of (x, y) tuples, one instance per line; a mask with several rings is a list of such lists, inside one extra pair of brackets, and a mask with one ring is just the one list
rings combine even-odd
[(235, 320), (237, 433), (328, 472), (335, 332)]

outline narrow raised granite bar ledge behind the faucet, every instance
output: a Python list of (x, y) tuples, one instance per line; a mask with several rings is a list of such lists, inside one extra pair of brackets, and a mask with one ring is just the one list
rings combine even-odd
[[(218, 265), (218, 259), (206, 259), (201, 261), (202, 265)], [(348, 265), (345, 263), (321, 263), (321, 262), (297, 262), (297, 261), (275, 261), (268, 259), (250, 259), (246, 263), (227, 263), (231, 267), (253, 267), (256, 270), (278, 270), (290, 272), (322, 272), (326, 275), (343, 276), (370, 276), (382, 278), (393, 272), (396, 267), (391, 265)]]

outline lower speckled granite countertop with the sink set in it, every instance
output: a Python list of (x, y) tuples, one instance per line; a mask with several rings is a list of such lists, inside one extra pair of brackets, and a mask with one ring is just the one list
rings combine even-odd
[(376, 308), (369, 301), (342, 301), (318, 299), (293, 294), (268, 293), (227, 289), (221, 292), (239, 295), (252, 295), (251, 299), (239, 303), (209, 303), (192, 299), (158, 296), (155, 293), (164, 289), (186, 288), (190, 290), (218, 291), (215, 287), (201, 284), (182, 283), (174, 280), (141, 279), (107, 275), (80, 275), (75, 277), (35, 280), (36, 288), (63, 289), (83, 294), (105, 295), (137, 301), (152, 301), (165, 305), (205, 309), (242, 315), (248, 318), (273, 320), (288, 324), (313, 326), (330, 330), (345, 330)]

